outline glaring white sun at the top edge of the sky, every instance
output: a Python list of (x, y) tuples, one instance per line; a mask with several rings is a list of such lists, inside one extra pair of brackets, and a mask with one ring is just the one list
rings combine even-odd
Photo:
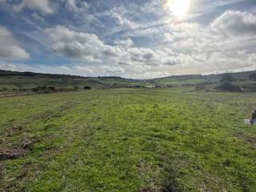
[(191, 0), (168, 0), (167, 8), (177, 17), (185, 16), (190, 9)]

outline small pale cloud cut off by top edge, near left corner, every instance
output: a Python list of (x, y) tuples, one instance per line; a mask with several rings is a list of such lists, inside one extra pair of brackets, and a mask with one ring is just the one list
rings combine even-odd
[(14, 5), (14, 10), (20, 11), (23, 9), (38, 10), (42, 14), (54, 13), (53, 5), (50, 0), (22, 0), (20, 4)]

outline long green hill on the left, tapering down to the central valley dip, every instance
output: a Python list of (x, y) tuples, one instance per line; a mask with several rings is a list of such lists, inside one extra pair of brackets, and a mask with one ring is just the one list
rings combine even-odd
[(0, 90), (32, 89), (36, 86), (54, 86), (57, 88), (72, 88), (90, 86), (93, 89), (136, 86), (141, 81), (121, 77), (82, 77), (69, 74), (40, 74), (33, 72), (18, 72), (0, 70)]

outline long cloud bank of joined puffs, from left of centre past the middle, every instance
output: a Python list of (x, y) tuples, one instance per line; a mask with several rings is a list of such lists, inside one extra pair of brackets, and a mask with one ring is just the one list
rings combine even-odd
[(106, 45), (96, 34), (70, 30), (65, 26), (46, 29), (53, 41), (51, 48), (66, 58), (74, 60), (101, 61), (112, 58), (119, 63), (138, 65), (170, 65), (170, 59), (149, 48), (130, 47), (130, 39), (118, 40), (115, 46)]

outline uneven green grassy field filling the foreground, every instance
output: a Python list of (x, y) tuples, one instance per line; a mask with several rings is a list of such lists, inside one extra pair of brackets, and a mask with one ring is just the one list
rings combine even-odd
[(256, 94), (0, 98), (0, 191), (255, 191)]

